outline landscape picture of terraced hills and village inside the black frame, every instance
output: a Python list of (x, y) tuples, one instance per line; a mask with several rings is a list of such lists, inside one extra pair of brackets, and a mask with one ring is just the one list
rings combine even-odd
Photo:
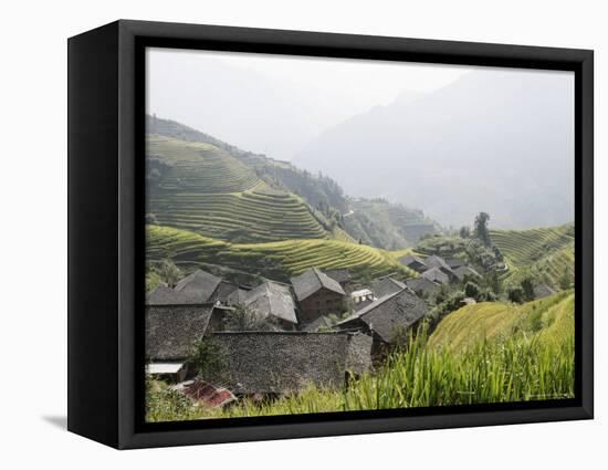
[(575, 396), (573, 74), (146, 54), (147, 421)]

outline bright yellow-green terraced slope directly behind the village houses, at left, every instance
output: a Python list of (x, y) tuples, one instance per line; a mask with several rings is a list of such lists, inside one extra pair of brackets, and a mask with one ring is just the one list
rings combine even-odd
[(168, 227), (147, 226), (148, 260), (172, 258), (178, 263), (220, 264), (286, 281), (307, 268), (348, 269), (354, 276), (413, 276), (389, 252), (338, 240), (283, 240), (229, 243)]

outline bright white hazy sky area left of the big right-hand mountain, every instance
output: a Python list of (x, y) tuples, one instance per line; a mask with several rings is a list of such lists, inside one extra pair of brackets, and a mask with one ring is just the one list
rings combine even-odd
[(292, 159), (328, 127), (433, 92), (471, 67), (148, 49), (147, 112)]

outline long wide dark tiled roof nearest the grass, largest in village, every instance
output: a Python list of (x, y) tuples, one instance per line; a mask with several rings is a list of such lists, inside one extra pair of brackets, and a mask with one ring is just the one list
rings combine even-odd
[(207, 379), (237, 394), (289, 394), (308, 384), (338, 388), (347, 369), (371, 364), (371, 343), (354, 335), (304, 332), (213, 333), (223, 366)]

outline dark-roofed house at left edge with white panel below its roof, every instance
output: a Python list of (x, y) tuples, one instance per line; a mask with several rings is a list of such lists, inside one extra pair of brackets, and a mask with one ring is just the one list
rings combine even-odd
[(146, 373), (168, 382), (188, 376), (193, 344), (221, 330), (226, 310), (206, 305), (146, 305)]

